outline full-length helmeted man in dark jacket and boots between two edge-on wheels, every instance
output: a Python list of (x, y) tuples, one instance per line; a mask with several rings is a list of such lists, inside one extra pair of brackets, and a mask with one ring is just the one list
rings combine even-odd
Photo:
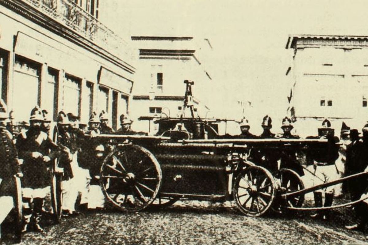
[(28, 204), (32, 203), (24, 211), (23, 231), (43, 232), (40, 221), (43, 201), (49, 190), (49, 169), (58, 153), (57, 145), (41, 130), (42, 122), (42, 111), (36, 106), (31, 111), (29, 129), (18, 135), (16, 143), (19, 158), (23, 159), (23, 198)]

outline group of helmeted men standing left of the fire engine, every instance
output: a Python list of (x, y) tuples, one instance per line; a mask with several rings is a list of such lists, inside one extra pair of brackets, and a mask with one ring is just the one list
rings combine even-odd
[[(57, 116), (53, 140), (50, 138), (52, 120), (47, 111), (38, 106), (31, 111), (28, 128), (16, 138), (7, 130), (8, 118), (6, 104), (0, 99), (0, 196), (12, 196), (13, 176), (22, 177), (24, 232), (43, 232), (41, 217), (45, 197), (50, 192), (50, 170), (55, 159), (64, 172), (63, 214), (77, 214), (78, 194), (81, 195), (80, 208), (103, 208), (102, 192), (97, 200), (99, 205), (93, 200), (94, 195), (89, 194), (90, 187), (98, 184), (95, 176), (98, 176), (99, 158), (103, 157), (104, 152), (95, 138), (98, 134), (134, 133), (130, 129), (132, 121), (126, 115), (120, 116), (121, 129), (114, 132), (108, 126), (105, 111), (99, 117), (93, 112), (88, 129), (79, 124), (78, 116), (61, 111)], [(100, 188), (95, 189), (100, 191)]]

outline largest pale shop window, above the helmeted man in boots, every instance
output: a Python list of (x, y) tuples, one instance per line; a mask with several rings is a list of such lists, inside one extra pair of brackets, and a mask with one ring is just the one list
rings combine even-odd
[(15, 122), (28, 122), (31, 110), (40, 105), (41, 65), (19, 55), (14, 62), (13, 110)]

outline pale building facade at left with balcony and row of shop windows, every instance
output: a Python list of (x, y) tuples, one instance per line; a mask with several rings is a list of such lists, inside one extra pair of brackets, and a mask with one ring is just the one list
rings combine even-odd
[(98, 21), (98, 0), (0, 0), (1, 97), (14, 122), (35, 105), (87, 123), (127, 112), (135, 68), (131, 49)]

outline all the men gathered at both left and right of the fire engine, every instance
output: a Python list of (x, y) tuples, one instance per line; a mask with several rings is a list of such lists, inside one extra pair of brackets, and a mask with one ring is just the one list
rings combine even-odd
[[(63, 168), (63, 215), (77, 215), (77, 209), (96, 209), (104, 207), (104, 196), (99, 187), (99, 170), (102, 158), (105, 156), (108, 144), (102, 145), (96, 136), (99, 134), (137, 134), (131, 130), (132, 120), (127, 115), (120, 116), (121, 128), (116, 132), (108, 126), (109, 119), (105, 111), (99, 115), (93, 112), (89, 119), (89, 125), (79, 123), (78, 116), (72, 113), (59, 112), (57, 125), (53, 130), (53, 140), (50, 138), (51, 119), (46, 110), (39, 107), (32, 109), (29, 118), (29, 127), (22, 130), (16, 138), (13, 138), (7, 124), (8, 113), (6, 105), (0, 100), (0, 196), (10, 195), (11, 178), (14, 174), (22, 177), (22, 197), (24, 203), (24, 229), (23, 231), (43, 232), (41, 217), (43, 203), (50, 186), (50, 168), (55, 159), (58, 167)], [(221, 138), (286, 138), (298, 139), (293, 135), (292, 120), (282, 120), (283, 134), (275, 135), (271, 132), (272, 119), (265, 116), (262, 120), (263, 132), (260, 136), (250, 133), (248, 120), (243, 118), (240, 122), (241, 134), (237, 136), (224, 135)], [(339, 147), (345, 147), (346, 174), (354, 174), (367, 171), (368, 157), (368, 124), (362, 129), (363, 135), (359, 137), (358, 131), (346, 128), (341, 134), (342, 145), (336, 144), (339, 138), (335, 136), (329, 120), (322, 122), (317, 136), (307, 138), (324, 138), (328, 140), (326, 149), (308, 149), (305, 154), (307, 165), (313, 166), (321, 176), (326, 177), (331, 171), (337, 170), (335, 161), (339, 157)], [(85, 140), (85, 136), (88, 140)], [(350, 135), (350, 137), (349, 137)], [(262, 149), (253, 151), (250, 160), (258, 165), (266, 167), (271, 172), (280, 168), (295, 171), (299, 176), (308, 170), (298, 162), (296, 149)], [(337, 170), (338, 172), (338, 170)], [(326, 173), (326, 174), (325, 174)], [(350, 180), (348, 189), (353, 201), (361, 198), (367, 192), (367, 177)], [(323, 194), (324, 193), (324, 194)], [(331, 206), (334, 190), (315, 191), (316, 207)], [(323, 203), (322, 195), (325, 200)], [(80, 197), (80, 198), (78, 198)], [(77, 199), (80, 201), (78, 202)], [(368, 206), (366, 202), (359, 202), (354, 206), (357, 213), (357, 224), (349, 226), (350, 229), (364, 230), (368, 222)], [(325, 217), (325, 212), (317, 212), (315, 217)]]

